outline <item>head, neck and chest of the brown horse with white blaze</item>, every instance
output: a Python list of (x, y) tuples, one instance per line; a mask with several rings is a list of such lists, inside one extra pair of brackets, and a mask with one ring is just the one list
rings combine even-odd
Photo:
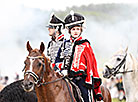
[(43, 42), (40, 49), (32, 49), (27, 42), (29, 54), (24, 62), (24, 90), (30, 92), (35, 88), (38, 102), (75, 102), (66, 81), (50, 68), (50, 61), (43, 54), (44, 49)]

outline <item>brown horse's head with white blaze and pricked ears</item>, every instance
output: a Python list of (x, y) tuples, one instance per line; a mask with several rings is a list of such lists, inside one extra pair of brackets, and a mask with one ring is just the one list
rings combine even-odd
[(24, 81), (23, 88), (25, 91), (32, 91), (35, 85), (38, 85), (43, 78), (46, 70), (46, 57), (43, 54), (45, 46), (41, 42), (40, 49), (32, 49), (27, 42), (27, 50), (29, 52), (26, 60), (24, 61)]

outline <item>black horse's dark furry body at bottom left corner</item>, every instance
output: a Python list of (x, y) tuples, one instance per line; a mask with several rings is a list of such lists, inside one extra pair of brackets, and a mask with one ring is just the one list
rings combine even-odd
[(25, 92), (21, 85), (22, 81), (15, 81), (6, 86), (0, 92), (0, 102), (37, 102), (35, 90)]

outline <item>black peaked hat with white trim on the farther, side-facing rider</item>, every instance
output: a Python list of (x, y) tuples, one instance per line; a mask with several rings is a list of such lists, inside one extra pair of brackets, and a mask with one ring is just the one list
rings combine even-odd
[(51, 19), (49, 21), (48, 28), (56, 28), (57, 26), (64, 28), (64, 22), (60, 20), (58, 17), (56, 17), (54, 14), (52, 14)]

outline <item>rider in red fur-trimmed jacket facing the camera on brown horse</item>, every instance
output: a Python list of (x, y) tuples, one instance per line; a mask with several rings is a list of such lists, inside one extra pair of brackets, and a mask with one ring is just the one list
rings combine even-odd
[[(64, 22), (70, 39), (59, 49), (55, 68), (64, 76), (68, 75), (79, 87), (84, 102), (100, 101), (103, 97), (96, 59), (90, 42), (81, 36), (85, 18), (72, 11), (65, 17)], [(61, 56), (62, 52), (64, 58)]]

